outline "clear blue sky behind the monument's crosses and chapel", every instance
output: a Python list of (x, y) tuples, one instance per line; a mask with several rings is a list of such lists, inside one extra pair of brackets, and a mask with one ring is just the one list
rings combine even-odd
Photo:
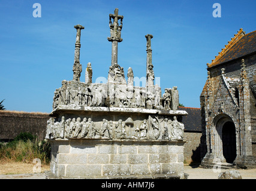
[[(33, 17), (33, 4), (41, 17)], [(213, 4), (221, 17), (213, 17)], [(155, 77), (164, 88), (177, 86), (180, 103), (200, 107), (210, 63), (237, 30), (256, 30), (256, 1), (0, 1), (0, 101), (7, 110), (51, 112), (53, 93), (73, 79), (76, 29), (82, 24), (80, 63), (92, 63), (92, 81), (107, 78), (111, 65), (109, 14), (124, 16), (118, 63), (134, 76), (146, 75), (146, 38), (152, 39)]]

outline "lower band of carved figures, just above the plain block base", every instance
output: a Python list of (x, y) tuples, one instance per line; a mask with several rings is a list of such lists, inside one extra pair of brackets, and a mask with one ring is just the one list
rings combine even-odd
[(158, 119), (149, 116), (143, 121), (134, 122), (131, 118), (126, 121), (94, 122), (91, 118), (68, 118), (62, 116), (61, 121), (50, 118), (47, 121), (46, 138), (102, 138), (102, 139), (168, 139), (182, 140), (184, 125), (177, 117)]

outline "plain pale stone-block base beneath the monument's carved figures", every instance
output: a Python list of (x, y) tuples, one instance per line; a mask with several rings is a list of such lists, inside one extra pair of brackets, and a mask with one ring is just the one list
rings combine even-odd
[(50, 142), (51, 172), (55, 178), (184, 178), (183, 141), (80, 139)]

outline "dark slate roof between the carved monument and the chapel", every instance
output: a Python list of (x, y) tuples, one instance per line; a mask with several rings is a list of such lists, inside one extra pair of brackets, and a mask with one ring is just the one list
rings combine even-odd
[(179, 110), (185, 110), (188, 115), (183, 116), (182, 122), (186, 131), (201, 132), (201, 109), (194, 107), (179, 107)]

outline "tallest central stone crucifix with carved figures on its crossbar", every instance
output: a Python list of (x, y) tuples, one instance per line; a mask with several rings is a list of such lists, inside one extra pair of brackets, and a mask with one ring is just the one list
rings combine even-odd
[[(113, 23), (112, 23), (113, 19)], [(118, 20), (120, 19), (120, 25)], [(118, 63), (118, 42), (122, 42), (123, 39), (121, 38), (121, 30), (123, 26), (124, 16), (118, 15), (118, 8), (115, 9), (114, 14), (109, 14), (109, 27), (110, 27), (110, 37), (107, 39), (112, 42), (112, 62), (111, 65), (113, 66), (115, 63)]]

